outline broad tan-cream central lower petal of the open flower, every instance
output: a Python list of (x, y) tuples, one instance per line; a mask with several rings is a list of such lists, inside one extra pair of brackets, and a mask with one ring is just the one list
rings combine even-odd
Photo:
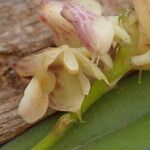
[(50, 108), (78, 112), (85, 96), (78, 75), (70, 75), (67, 71), (60, 70), (57, 81), (58, 85), (50, 94)]

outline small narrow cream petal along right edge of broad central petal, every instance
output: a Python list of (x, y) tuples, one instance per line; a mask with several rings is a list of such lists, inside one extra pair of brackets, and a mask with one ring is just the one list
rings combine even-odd
[(81, 70), (78, 73), (78, 77), (80, 80), (80, 84), (81, 84), (81, 88), (82, 88), (83, 93), (85, 95), (88, 95), (90, 88), (91, 88), (90, 81), (88, 80), (88, 78), (84, 75), (84, 73)]

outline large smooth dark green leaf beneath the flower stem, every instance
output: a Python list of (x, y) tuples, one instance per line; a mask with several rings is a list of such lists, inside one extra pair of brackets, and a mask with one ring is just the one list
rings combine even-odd
[[(150, 72), (130, 75), (103, 96), (50, 150), (150, 149)], [(58, 115), (59, 116), (59, 115)], [(58, 116), (49, 118), (4, 145), (2, 150), (28, 150), (51, 129)]]

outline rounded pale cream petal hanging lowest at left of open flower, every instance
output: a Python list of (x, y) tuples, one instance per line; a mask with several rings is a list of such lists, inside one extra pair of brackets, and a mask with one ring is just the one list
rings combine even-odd
[(43, 93), (39, 80), (33, 78), (24, 92), (18, 114), (26, 122), (33, 123), (46, 113), (47, 107), (48, 95)]

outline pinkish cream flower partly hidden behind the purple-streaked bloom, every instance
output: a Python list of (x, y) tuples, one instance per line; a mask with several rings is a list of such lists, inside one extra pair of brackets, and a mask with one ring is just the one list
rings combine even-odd
[[(101, 13), (101, 6), (95, 0), (72, 0), (85, 6), (89, 10), (93, 10)], [(56, 46), (67, 44), (70, 47), (81, 47), (81, 41), (77, 36), (74, 27), (64, 19), (60, 12), (63, 6), (69, 2), (69, 0), (47, 0), (42, 1), (41, 4), (41, 21), (44, 22), (53, 31), (53, 40)]]

